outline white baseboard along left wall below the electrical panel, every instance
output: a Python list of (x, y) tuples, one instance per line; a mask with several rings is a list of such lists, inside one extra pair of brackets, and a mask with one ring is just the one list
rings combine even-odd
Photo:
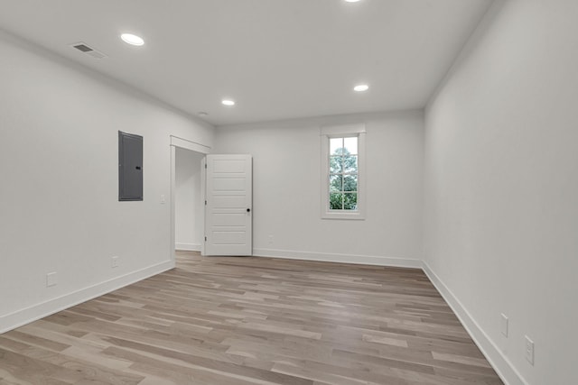
[(116, 289), (124, 288), (127, 285), (160, 274), (163, 271), (171, 270), (172, 268), (174, 268), (174, 261), (164, 261), (141, 270), (130, 272), (121, 277), (89, 286), (88, 288), (79, 289), (59, 298), (52, 298), (40, 304), (33, 305), (32, 307), (25, 307), (14, 313), (0, 316), (0, 334), (86, 302), (89, 299), (97, 298)]

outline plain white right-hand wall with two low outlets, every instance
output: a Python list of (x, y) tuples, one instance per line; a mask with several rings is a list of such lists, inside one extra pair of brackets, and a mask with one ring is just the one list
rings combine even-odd
[(496, 3), (426, 111), (425, 261), (510, 384), (578, 383), (577, 15)]

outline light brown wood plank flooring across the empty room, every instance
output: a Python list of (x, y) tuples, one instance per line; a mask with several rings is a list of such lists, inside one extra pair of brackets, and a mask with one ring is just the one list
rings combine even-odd
[(421, 270), (177, 253), (0, 335), (1, 384), (497, 385)]

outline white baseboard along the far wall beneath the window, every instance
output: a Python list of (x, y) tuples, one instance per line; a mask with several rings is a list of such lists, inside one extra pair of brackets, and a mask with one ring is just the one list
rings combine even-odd
[(253, 249), (255, 257), (284, 258), (289, 260), (357, 263), (364, 265), (422, 268), (421, 260), (373, 255), (335, 254), (330, 252), (296, 252), (294, 250)]

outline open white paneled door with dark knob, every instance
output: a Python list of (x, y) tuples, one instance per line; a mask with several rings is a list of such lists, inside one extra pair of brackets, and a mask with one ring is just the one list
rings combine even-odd
[(251, 255), (253, 159), (207, 155), (203, 255)]

